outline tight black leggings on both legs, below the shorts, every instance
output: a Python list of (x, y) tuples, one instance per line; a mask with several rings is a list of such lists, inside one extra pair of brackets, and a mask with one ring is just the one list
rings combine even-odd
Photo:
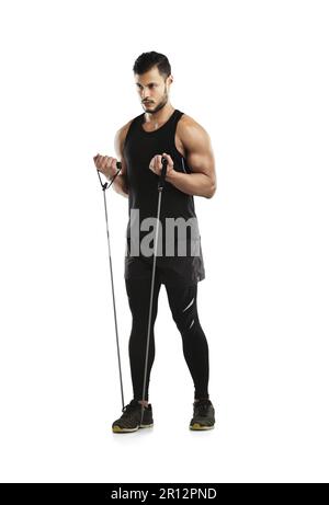
[[(134, 399), (141, 400), (149, 318), (150, 279), (126, 278), (125, 283), (133, 315), (129, 337), (129, 361)], [(148, 400), (150, 371), (155, 360), (154, 325), (158, 312), (160, 287), (161, 284), (156, 277), (145, 400)], [(194, 399), (209, 398), (207, 389), (209, 376), (208, 345), (197, 315), (197, 284), (189, 287), (166, 285), (166, 290), (172, 318), (182, 335), (184, 358), (194, 382)]]

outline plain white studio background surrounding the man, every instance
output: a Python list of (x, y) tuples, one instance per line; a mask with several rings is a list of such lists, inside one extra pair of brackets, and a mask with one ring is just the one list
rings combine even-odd
[[(328, 482), (326, 1), (2, 1), (2, 482)], [(121, 414), (97, 153), (143, 112), (133, 65), (164, 53), (171, 103), (212, 137), (217, 192), (195, 198), (198, 311), (216, 427), (160, 291), (155, 427)], [(107, 192), (125, 403), (127, 200)]]

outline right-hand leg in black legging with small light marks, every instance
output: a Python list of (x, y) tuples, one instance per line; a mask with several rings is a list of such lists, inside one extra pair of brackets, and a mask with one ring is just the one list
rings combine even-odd
[(168, 301), (182, 335), (183, 353), (194, 382), (195, 400), (208, 399), (208, 344), (201, 328), (196, 307), (197, 284), (167, 286)]

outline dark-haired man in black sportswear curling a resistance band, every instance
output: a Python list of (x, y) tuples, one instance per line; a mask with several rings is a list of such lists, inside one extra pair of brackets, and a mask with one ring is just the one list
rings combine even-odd
[[(208, 345), (196, 307), (197, 283), (205, 273), (193, 196), (211, 198), (214, 195), (214, 154), (205, 129), (170, 103), (169, 90), (173, 78), (168, 58), (156, 51), (143, 53), (136, 59), (133, 71), (145, 112), (116, 133), (114, 144), (122, 171), (113, 185), (129, 202), (125, 284), (133, 318), (129, 363), (134, 399), (123, 409), (123, 415), (114, 421), (112, 429), (114, 433), (128, 433), (154, 424), (148, 386), (155, 359), (154, 324), (161, 284), (166, 286), (194, 382), (190, 428), (209, 429), (215, 424), (215, 410), (207, 389)], [(143, 391), (152, 271), (149, 250), (152, 252), (155, 249), (154, 236), (150, 241), (146, 232), (150, 220), (157, 216), (162, 158), (168, 161), (168, 167), (159, 223), (161, 233), (157, 249), (146, 391)], [(117, 159), (97, 154), (94, 163), (110, 180), (116, 173)], [(191, 222), (194, 226), (189, 228), (189, 236), (186, 225)], [(171, 227), (167, 228), (168, 223)], [(170, 233), (173, 223), (180, 228), (178, 239)], [(182, 225), (185, 225), (185, 237), (181, 233)], [(159, 257), (158, 251), (162, 253)], [(169, 394), (174, 394), (174, 391)]]

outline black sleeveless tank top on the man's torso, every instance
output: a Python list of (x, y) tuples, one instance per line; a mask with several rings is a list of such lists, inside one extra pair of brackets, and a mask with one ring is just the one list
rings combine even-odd
[[(160, 128), (154, 131), (146, 131), (143, 128), (143, 123), (145, 120), (144, 113), (135, 117), (129, 125), (123, 148), (124, 159), (127, 164), (127, 184), (129, 188), (129, 220), (126, 230), (127, 239), (131, 238), (132, 209), (139, 210), (139, 222), (141, 222), (141, 220), (145, 218), (157, 217), (159, 176), (149, 169), (149, 163), (154, 156), (166, 152), (172, 158), (173, 168), (175, 171), (191, 173), (185, 158), (179, 152), (174, 144), (177, 124), (182, 115), (182, 112), (174, 110), (169, 119), (162, 126), (160, 126)], [(162, 264), (166, 263), (166, 218), (184, 218), (185, 220), (194, 218), (193, 221), (196, 222), (197, 227), (197, 218), (195, 215), (193, 196), (181, 192), (168, 181), (164, 182), (164, 187), (162, 191), (160, 213), (163, 244), (163, 256), (161, 259)], [(140, 240), (147, 233), (149, 233), (149, 231), (140, 231)], [(191, 237), (188, 229), (188, 242), (190, 239)], [(189, 246), (188, 250), (190, 251)], [(177, 256), (177, 250), (174, 255)], [(158, 260), (159, 259), (157, 259), (157, 262)], [(173, 259), (170, 257), (168, 260), (170, 263), (172, 263)], [(177, 257), (177, 260), (181, 260), (181, 257)], [(198, 262), (195, 262), (194, 260), (190, 263), (191, 265), (194, 265), (194, 269), (195, 265), (198, 265), (198, 272), (194, 272), (192, 277), (197, 278), (197, 280), (204, 278), (202, 253)]]

